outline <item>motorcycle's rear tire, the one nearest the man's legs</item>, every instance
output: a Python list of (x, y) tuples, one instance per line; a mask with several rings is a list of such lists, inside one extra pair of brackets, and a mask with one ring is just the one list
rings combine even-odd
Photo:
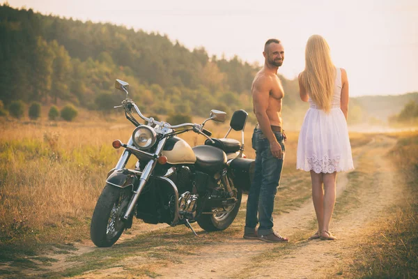
[(240, 210), (242, 198), (241, 189), (234, 189), (234, 191), (236, 193), (235, 198), (238, 199), (238, 202), (233, 205), (233, 210), (229, 213), (201, 215), (196, 221), (202, 229), (206, 230), (206, 232), (223, 231), (233, 223), (233, 220), (235, 220), (238, 214), (238, 210)]

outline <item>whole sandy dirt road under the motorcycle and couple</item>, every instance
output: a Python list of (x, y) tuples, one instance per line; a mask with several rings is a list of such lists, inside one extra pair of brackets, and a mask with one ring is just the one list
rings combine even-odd
[[(307, 241), (316, 231), (314, 207), (309, 199), (295, 210), (274, 216), (274, 229), (288, 236), (290, 243), (242, 239), (242, 217), (235, 221), (230, 232), (221, 232), (210, 239), (199, 229), (196, 239), (185, 229), (141, 225), (132, 234), (123, 236), (116, 248), (105, 250), (91, 243), (77, 244), (78, 250), (68, 255), (49, 255), (58, 262), (45, 266), (44, 271), (28, 271), (27, 275), (72, 276), (68, 269), (75, 270), (82, 264), (85, 271), (75, 278), (324, 278), (353, 257), (364, 230), (370, 229), (373, 221), (385, 214), (385, 209), (398, 202), (396, 197), (401, 196), (403, 188), (398, 185), (395, 168), (387, 156), (395, 143), (391, 137), (373, 135), (371, 142), (353, 149), (355, 171), (337, 177), (337, 203), (331, 227), (337, 241)], [(241, 210), (243, 216), (245, 209)], [(158, 241), (161, 238), (172, 241), (174, 256), (169, 256), (169, 246), (153, 246), (148, 242), (144, 244), (148, 245), (146, 253), (132, 249), (138, 244), (130, 241), (144, 232), (152, 237), (151, 229), (158, 232)], [(216, 241), (217, 237), (222, 241)], [(195, 246), (195, 241), (203, 244)], [(104, 260), (111, 252), (121, 252), (123, 257), (112, 257), (111, 264), (102, 262), (100, 266), (86, 267), (85, 261), (95, 259), (97, 263), (98, 257)]]

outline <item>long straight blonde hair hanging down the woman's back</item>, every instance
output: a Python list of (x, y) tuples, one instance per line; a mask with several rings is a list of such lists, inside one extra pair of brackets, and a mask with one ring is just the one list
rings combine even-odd
[(318, 107), (329, 112), (334, 94), (335, 66), (330, 46), (320, 35), (309, 37), (305, 48), (305, 68), (302, 83)]

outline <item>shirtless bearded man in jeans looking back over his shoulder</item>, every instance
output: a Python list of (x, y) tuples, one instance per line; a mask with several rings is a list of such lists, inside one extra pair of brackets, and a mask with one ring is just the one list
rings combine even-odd
[(270, 39), (265, 42), (263, 56), (264, 66), (254, 77), (251, 88), (258, 124), (251, 139), (256, 150), (256, 165), (247, 200), (244, 238), (287, 242), (288, 239), (274, 232), (272, 218), (286, 140), (281, 128), (284, 91), (277, 77), (277, 70), (284, 60), (284, 47), (279, 40)]

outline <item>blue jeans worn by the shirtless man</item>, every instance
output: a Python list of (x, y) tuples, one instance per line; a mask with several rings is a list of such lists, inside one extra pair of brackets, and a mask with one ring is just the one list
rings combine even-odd
[[(284, 150), (283, 134), (273, 132), (277, 142)], [(279, 186), (283, 160), (272, 156), (270, 142), (261, 129), (255, 128), (251, 139), (252, 147), (256, 150), (256, 165), (254, 179), (249, 189), (247, 199), (247, 216), (245, 218), (245, 233), (254, 232), (258, 224), (258, 236), (273, 232), (272, 213), (274, 197)], [(258, 216), (258, 218), (257, 218)]]

